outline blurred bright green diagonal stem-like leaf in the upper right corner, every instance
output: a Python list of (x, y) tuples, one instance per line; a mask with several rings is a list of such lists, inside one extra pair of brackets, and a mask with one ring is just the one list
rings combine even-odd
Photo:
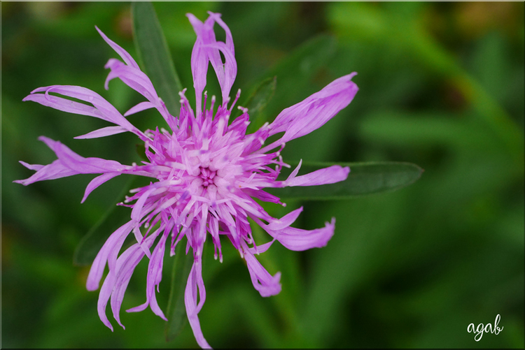
[(422, 25), (421, 15), (417, 15), (423, 8), (417, 6), (416, 13), (407, 16), (402, 14), (405, 7), (402, 4), (392, 4), (391, 7), (386, 7), (390, 10), (386, 13), (370, 3), (359, 6), (336, 3), (330, 6), (329, 17), (335, 31), (342, 38), (346, 37), (352, 41), (373, 38), (396, 45), (406, 54), (415, 57), (429, 71), (449, 79), (472, 104), (478, 117), (498, 133), (515, 161), (521, 163), (524, 156), (522, 128), (498, 101), (465, 71), (458, 60), (428, 34), (428, 30)]

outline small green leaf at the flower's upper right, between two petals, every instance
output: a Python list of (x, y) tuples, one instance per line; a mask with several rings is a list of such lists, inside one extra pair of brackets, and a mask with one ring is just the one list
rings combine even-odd
[(262, 110), (265, 109), (269, 100), (274, 96), (276, 86), (277, 77), (262, 80), (253, 93), (250, 94), (246, 102), (239, 104), (248, 108), (248, 114), (250, 115), (250, 125), (246, 133), (253, 133), (264, 124), (264, 122), (260, 120), (262, 118), (258, 117), (261, 115)]

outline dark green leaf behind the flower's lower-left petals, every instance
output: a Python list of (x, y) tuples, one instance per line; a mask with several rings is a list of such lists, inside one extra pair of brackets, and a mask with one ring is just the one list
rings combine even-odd
[(104, 242), (108, 239), (109, 235), (113, 233), (118, 227), (130, 221), (130, 209), (127, 207), (121, 207), (116, 203), (123, 200), (127, 191), (130, 191), (136, 177), (131, 177), (126, 182), (120, 194), (113, 200), (111, 205), (103, 217), (94, 224), (90, 231), (87, 231), (85, 236), (80, 240), (76, 246), (75, 253), (73, 254), (74, 265), (91, 265), (95, 256), (104, 245)]

